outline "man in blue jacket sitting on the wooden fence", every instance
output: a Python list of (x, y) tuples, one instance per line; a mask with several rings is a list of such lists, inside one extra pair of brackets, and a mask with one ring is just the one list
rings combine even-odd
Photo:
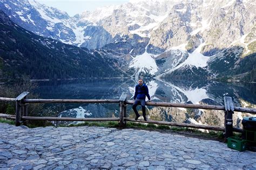
[(145, 121), (147, 121), (146, 119), (146, 96), (147, 96), (147, 99), (149, 99), (150, 101), (150, 95), (149, 95), (149, 89), (147, 88), (147, 86), (144, 84), (144, 81), (143, 79), (139, 79), (138, 81), (138, 85), (136, 85), (135, 87), (135, 94), (134, 94), (134, 97), (133, 99), (135, 100), (133, 105), (132, 105), (132, 108), (133, 108), (133, 111), (134, 113), (136, 114), (136, 117), (135, 117), (135, 120), (138, 120), (138, 118), (140, 117), (136, 107), (138, 106), (138, 104), (140, 103), (140, 105), (142, 105), (142, 115), (143, 115), (143, 118)]

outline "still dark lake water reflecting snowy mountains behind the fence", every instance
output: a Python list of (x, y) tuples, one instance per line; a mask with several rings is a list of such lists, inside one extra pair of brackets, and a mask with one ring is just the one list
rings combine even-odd
[[(217, 81), (159, 81), (145, 79), (151, 100), (170, 103), (224, 105), (230, 96), (235, 106), (256, 104), (256, 84), (224, 83)], [(119, 99), (123, 92), (132, 99), (136, 80), (83, 79), (39, 81), (35, 93), (42, 99)], [(55, 105), (55, 104), (52, 104)], [(62, 117), (118, 117), (118, 104), (64, 104)], [(49, 106), (45, 105), (45, 107)], [(139, 108), (139, 106), (138, 106)], [(133, 114), (131, 106), (128, 114)]]

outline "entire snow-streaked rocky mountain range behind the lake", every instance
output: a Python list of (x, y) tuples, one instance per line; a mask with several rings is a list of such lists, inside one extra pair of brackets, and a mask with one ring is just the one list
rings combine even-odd
[[(102, 48), (103, 57), (118, 58), (123, 62), (121, 69), (131, 76), (250, 77), (255, 69), (250, 64), (251, 69), (236, 70), (243, 61), (255, 64), (253, 0), (140, 0), (73, 17), (34, 0), (3, 0), (0, 8), (38, 35)], [(222, 68), (226, 74), (220, 66), (226, 66)]]

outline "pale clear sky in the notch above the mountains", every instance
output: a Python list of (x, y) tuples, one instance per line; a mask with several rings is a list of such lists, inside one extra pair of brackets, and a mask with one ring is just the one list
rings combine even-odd
[(129, 2), (129, 0), (35, 0), (47, 6), (55, 7), (67, 12), (70, 16), (84, 11), (93, 11), (108, 5), (120, 5)]

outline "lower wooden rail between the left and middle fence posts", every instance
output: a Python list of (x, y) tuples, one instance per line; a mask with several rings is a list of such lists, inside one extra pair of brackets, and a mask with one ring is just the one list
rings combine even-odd
[(59, 117), (22, 117), (22, 120), (57, 120), (57, 121), (119, 121), (120, 118), (59, 118)]

